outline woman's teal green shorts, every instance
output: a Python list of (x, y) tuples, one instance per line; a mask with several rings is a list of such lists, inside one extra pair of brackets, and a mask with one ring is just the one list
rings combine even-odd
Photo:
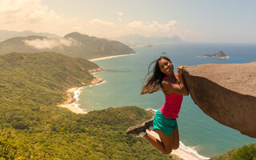
[(166, 118), (158, 109), (154, 114), (153, 128), (154, 130), (162, 130), (162, 133), (166, 135), (171, 135), (173, 134), (173, 129), (178, 128), (178, 123), (176, 119)]

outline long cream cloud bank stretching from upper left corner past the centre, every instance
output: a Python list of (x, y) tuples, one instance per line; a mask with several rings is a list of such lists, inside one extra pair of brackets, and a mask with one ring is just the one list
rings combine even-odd
[(186, 37), (190, 30), (182, 30), (177, 21), (161, 22), (126, 22), (123, 13), (118, 13), (118, 22), (107, 22), (93, 19), (89, 22), (79, 18), (67, 18), (57, 14), (41, 0), (0, 0), (0, 30), (32, 30), (58, 35), (78, 31), (97, 37), (114, 38), (125, 34), (140, 34), (143, 36), (178, 35)]

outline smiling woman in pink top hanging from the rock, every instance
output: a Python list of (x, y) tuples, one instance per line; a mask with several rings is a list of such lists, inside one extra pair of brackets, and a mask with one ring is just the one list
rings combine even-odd
[[(182, 77), (183, 68), (186, 66), (178, 66), (177, 75), (174, 73), (174, 66), (169, 58), (161, 56), (154, 62), (153, 74), (147, 78), (146, 84), (142, 87), (141, 94), (152, 94), (162, 90), (166, 96), (165, 104), (158, 109), (153, 121), (154, 131), (159, 135), (161, 142), (154, 138), (154, 136), (146, 133), (146, 128), (139, 135), (146, 138), (162, 154), (170, 154), (172, 150), (178, 149), (179, 146), (176, 118), (178, 118), (178, 112), (182, 105), (183, 95), (188, 95), (186, 84)], [(147, 123), (143, 123), (143, 125)]]

